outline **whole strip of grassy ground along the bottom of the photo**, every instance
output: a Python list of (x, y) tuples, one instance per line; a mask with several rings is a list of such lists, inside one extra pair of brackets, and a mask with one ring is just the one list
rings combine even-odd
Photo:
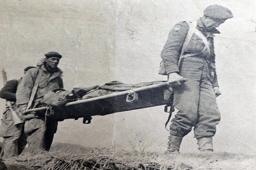
[(45, 170), (254, 170), (256, 156), (232, 153), (166, 155), (76, 145), (68, 148), (55, 144), (50, 152), (24, 154), (5, 160), (5, 163), (7, 167), (16, 163)]

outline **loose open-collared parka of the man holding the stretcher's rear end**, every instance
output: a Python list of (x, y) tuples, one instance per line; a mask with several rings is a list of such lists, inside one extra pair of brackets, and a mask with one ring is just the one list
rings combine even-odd
[[(39, 71), (41, 70), (41, 71)], [(63, 88), (62, 81), (62, 71), (57, 69), (53, 74), (49, 73), (44, 66), (40, 68), (34, 68), (27, 71), (24, 75), (21, 83), (18, 85), (18, 89), (16, 92), (16, 104), (18, 106), (18, 110), (23, 107), (27, 107), (32, 89), (34, 87), (35, 79), (38, 74), (41, 73), (41, 78), (39, 81), (38, 89), (35, 94), (35, 98), (32, 103), (32, 108), (36, 107), (39, 103), (39, 100), (43, 97), (43, 95), (47, 94), (49, 91), (53, 91), (57, 88)], [(30, 133), (34, 129), (46, 129), (45, 118), (44, 115), (38, 115), (35, 113), (35, 118), (29, 119), (25, 121), (24, 132)], [(56, 133), (57, 131), (58, 121), (51, 121), (50, 123), (50, 131), (51, 133)]]

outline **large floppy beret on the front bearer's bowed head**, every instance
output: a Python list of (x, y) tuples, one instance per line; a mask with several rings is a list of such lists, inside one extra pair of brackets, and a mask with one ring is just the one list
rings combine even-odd
[(228, 8), (216, 4), (205, 8), (203, 15), (213, 19), (233, 18), (233, 14)]

